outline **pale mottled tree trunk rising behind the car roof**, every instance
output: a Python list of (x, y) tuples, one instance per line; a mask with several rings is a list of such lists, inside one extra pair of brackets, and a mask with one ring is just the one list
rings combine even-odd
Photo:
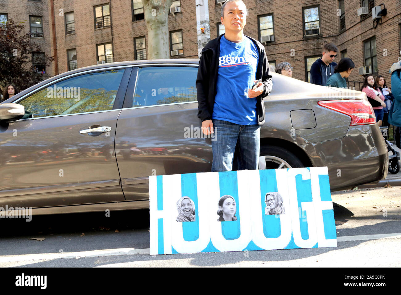
[(168, 59), (168, 11), (172, 0), (142, 0), (148, 28), (148, 59)]

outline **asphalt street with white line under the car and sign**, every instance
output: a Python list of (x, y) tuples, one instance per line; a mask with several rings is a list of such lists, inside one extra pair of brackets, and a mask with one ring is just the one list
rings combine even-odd
[[(0, 220), (0, 267), (400, 267), (401, 187), (332, 193), (338, 246), (149, 254), (147, 210)], [(30, 240), (45, 238), (44, 240)]]

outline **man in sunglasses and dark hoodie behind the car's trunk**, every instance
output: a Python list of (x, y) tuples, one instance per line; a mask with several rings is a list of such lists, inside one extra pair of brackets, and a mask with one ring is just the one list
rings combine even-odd
[(334, 67), (337, 65), (334, 59), (337, 56), (338, 48), (332, 43), (323, 46), (322, 57), (310, 67), (310, 83), (326, 85), (328, 78), (334, 74)]

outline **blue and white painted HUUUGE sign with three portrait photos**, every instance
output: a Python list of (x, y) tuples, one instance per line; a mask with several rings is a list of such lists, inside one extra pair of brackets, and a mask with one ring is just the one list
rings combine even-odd
[(327, 167), (149, 177), (150, 254), (336, 247)]

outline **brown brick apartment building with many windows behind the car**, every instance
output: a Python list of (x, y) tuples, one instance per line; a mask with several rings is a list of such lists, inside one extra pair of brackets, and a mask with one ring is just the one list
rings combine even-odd
[[(248, 9), (245, 34), (259, 41), (263, 38), (271, 64), (290, 62), (294, 78), (308, 81), (310, 66), (321, 57), (325, 43), (338, 46), (335, 61), (345, 56), (354, 61), (356, 69), (349, 81), (362, 81), (358, 68), (371, 65), (373, 74), (381, 74), (389, 82), (389, 67), (401, 55), (400, 0), (243, 1)], [(219, 2), (204, 0), (209, 10), (209, 30), (205, 32), (210, 32), (211, 39), (224, 33)], [(387, 15), (374, 28), (371, 9), (381, 3)], [(174, 54), (170, 57), (197, 58), (200, 28), (196, 24), (195, 0), (176, 0), (172, 6), (177, 12), (168, 15), (170, 51)], [(360, 7), (368, 7), (368, 13), (358, 16)], [(142, 0), (0, 0), (0, 17), (5, 13), (14, 20), (42, 16), (43, 37), (32, 38), (43, 42), (46, 55), (54, 56), (57, 49), (58, 73), (147, 56)], [(49, 25), (52, 13), (55, 31)], [(56, 73), (55, 63), (47, 69), (52, 75)], [(355, 87), (358, 89), (358, 84)]]

